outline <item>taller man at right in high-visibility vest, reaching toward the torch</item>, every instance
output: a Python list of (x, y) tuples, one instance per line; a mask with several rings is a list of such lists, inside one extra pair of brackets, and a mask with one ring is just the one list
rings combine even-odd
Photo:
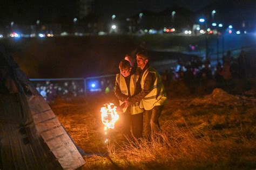
[(167, 97), (164, 84), (157, 71), (149, 66), (149, 55), (145, 52), (137, 53), (137, 64), (140, 69), (140, 85), (142, 91), (125, 101), (125, 107), (140, 102), (139, 107), (144, 108), (144, 135), (146, 138), (154, 136), (160, 131), (158, 118), (166, 103)]

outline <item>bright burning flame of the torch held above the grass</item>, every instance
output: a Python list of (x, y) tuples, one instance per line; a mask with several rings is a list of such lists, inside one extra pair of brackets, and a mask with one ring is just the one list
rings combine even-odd
[(114, 124), (119, 119), (116, 110), (117, 107), (113, 103), (104, 104), (104, 107), (100, 109), (100, 112), (102, 112), (102, 123), (105, 125), (105, 134), (107, 129), (114, 129)]

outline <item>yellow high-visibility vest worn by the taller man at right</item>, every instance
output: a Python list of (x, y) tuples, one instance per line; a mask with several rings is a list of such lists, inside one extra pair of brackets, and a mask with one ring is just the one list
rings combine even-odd
[(161, 82), (160, 75), (152, 67), (147, 68), (142, 75), (142, 81), (140, 82), (142, 89), (144, 88), (146, 76), (149, 73), (156, 75), (156, 80), (154, 81), (150, 93), (147, 94), (140, 102), (140, 108), (144, 107), (145, 110), (151, 110), (157, 105), (164, 105), (167, 99), (164, 84)]

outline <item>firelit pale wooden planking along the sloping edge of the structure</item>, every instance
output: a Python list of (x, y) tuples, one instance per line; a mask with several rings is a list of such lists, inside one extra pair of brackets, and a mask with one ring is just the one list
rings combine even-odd
[[(59, 164), (64, 169), (75, 169), (84, 165), (85, 161), (82, 155), (78, 152), (75, 144), (71, 141), (49, 105), (42, 101), (41, 96), (33, 96), (28, 99), (36, 129), (46, 145), (52, 150)], [(38, 104), (38, 102), (43, 104)]]

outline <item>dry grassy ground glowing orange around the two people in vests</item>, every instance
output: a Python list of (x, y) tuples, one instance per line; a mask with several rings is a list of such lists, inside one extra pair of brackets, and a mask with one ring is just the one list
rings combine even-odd
[[(51, 104), (59, 121), (88, 153), (82, 169), (255, 169), (255, 98), (220, 89), (203, 96), (170, 96), (151, 142), (124, 143), (120, 125), (104, 135), (100, 107), (113, 95)], [(109, 137), (110, 143), (104, 140)]]

